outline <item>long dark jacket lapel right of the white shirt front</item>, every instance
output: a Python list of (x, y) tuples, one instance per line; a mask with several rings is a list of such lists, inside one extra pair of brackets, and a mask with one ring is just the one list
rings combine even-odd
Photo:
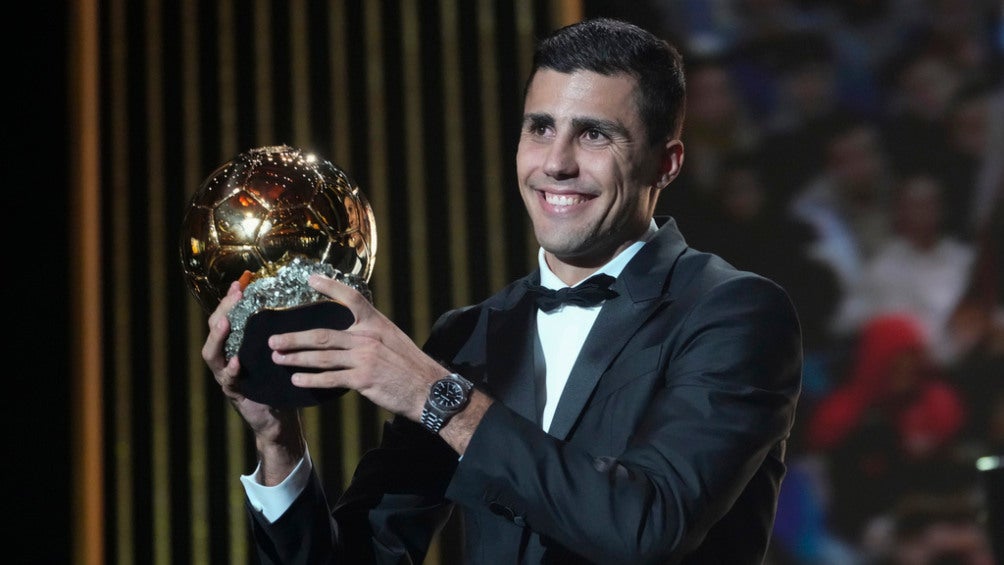
[(669, 280), (686, 249), (670, 220), (624, 267), (611, 287), (617, 296), (603, 304), (572, 365), (548, 434), (567, 439), (603, 371), (652, 313), (673, 301)]

